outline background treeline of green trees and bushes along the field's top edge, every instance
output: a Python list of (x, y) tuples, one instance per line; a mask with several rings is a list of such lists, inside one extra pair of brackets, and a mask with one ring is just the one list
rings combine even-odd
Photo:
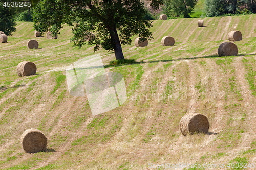
[[(31, 7), (12, 7), (14, 21), (33, 21), (33, 6), (38, 1), (32, 0)], [(256, 0), (160, 0), (163, 5), (157, 10), (147, 0), (141, 1), (148, 11), (145, 18), (150, 20), (158, 19), (160, 14), (166, 14), (170, 19), (256, 13)]]

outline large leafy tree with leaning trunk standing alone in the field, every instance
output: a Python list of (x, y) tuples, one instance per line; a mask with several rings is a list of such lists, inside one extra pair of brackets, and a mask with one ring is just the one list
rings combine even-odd
[[(152, 0), (151, 4), (158, 8), (161, 3), (162, 0)], [(95, 37), (88, 41), (95, 45), (94, 51), (101, 46), (114, 51), (116, 59), (122, 60), (121, 43), (130, 45), (133, 35), (139, 35), (142, 41), (152, 39), (148, 30), (152, 25), (145, 20), (146, 13), (140, 0), (42, 0), (35, 6), (33, 21), (35, 30), (50, 30), (53, 35), (63, 23), (74, 26), (71, 41), (79, 47), (87, 43), (84, 36), (94, 32)]]

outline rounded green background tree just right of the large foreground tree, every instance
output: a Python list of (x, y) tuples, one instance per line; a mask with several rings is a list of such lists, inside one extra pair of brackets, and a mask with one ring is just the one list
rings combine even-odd
[(163, 11), (170, 17), (189, 18), (197, 0), (164, 0)]

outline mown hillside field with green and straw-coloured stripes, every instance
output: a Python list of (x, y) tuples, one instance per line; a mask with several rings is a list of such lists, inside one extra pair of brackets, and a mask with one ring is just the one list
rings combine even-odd
[[(28, 50), (32, 23), (18, 22), (0, 44), (1, 169), (147, 169), (148, 163), (253, 163), (255, 134), (256, 15), (157, 20), (147, 47), (123, 46), (126, 58), (144, 61), (107, 66), (114, 55), (100, 50), (106, 69), (124, 75), (127, 101), (92, 116), (84, 98), (69, 95), (65, 67), (92, 55), (93, 46), (72, 47), (70, 27), (59, 38), (36, 38)], [(227, 34), (240, 30), (238, 56), (218, 57)], [(163, 36), (174, 46), (161, 46)], [(132, 37), (132, 41), (136, 38)], [(37, 75), (18, 77), (16, 66), (33, 61)], [(181, 117), (208, 117), (212, 135), (184, 137)], [(48, 137), (48, 151), (27, 154), (19, 137), (28, 128)]]

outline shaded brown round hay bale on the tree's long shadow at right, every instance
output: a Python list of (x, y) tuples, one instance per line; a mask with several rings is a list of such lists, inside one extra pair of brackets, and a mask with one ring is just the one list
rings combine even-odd
[(238, 47), (232, 42), (224, 42), (218, 48), (219, 56), (236, 56), (238, 54)]

